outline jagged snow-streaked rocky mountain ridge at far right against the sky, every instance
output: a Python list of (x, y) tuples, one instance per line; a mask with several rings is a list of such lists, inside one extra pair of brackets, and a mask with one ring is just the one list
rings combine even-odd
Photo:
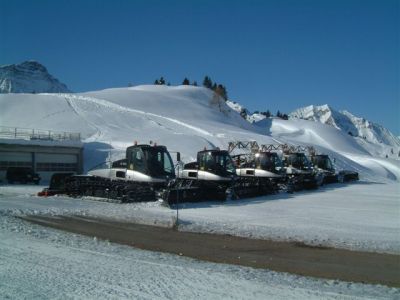
[(370, 143), (383, 143), (400, 149), (400, 139), (383, 126), (364, 118), (356, 117), (348, 111), (336, 111), (327, 104), (299, 108), (290, 113), (289, 116), (290, 118), (328, 124), (349, 135), (365, 139)]

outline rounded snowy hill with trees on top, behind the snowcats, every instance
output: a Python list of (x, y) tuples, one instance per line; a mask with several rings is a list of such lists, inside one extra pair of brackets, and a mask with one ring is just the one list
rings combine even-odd
[[(226, 148), (232, 139), (271, 141), (225, 101), (216, 103), (210, 90), (199, 87), (149, 85), (84, 94), (4, 94), (0, 103), (4, 108), (0, 125), (81, 132), (87, 151), (93, 147), (95, 152), (97, 148), (106, 151), (111, 146), (119, 156), (134, 141), (166, 145), (180, 151), (185, 161), (194, 160), (204, 147)], [(99, 161), (86, 163), (90, 168)]]

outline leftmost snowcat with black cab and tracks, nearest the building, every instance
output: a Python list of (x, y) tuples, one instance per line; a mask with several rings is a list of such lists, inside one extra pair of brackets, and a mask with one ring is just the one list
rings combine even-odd
[(111, 168), (67, 178), (65, 192), (70, 196), (96, 196), (118, 202), (155, 201), (156, 195), (174, 178), (174, 165), (165, 146), (135, 144)]

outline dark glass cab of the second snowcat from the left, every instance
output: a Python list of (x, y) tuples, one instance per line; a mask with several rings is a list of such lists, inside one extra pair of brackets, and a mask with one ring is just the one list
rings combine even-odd
[(232, 158), (226, 151), (203, 152), (199, 154), (200, 168), (210, 171), (220, 176), (230, 176), (236, 174), (236, 169)]

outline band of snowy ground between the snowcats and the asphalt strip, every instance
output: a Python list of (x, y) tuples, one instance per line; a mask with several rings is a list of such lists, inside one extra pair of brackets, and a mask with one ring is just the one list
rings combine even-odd
[[(38, 187), (0, 186), (0, 211), (84, 214), (172, 226), (176, 211), (160, 202), (113, 204), (91, 198), (30, 196)], [(400, 186), (358, 182), (317, 191), (179, 206), (180, 230), (232, 234), (351, 250), (400, 254)]]

